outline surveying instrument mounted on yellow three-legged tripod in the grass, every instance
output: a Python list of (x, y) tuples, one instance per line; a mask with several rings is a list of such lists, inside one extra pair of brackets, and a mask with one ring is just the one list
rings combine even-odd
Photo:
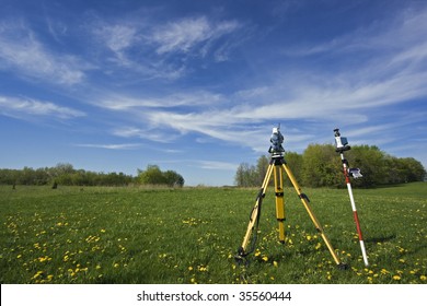
[[(263, 185), (259, 189), (259, 192), (256, 197), (255, 205), (252, 209), (251, 215), (250, 215), (250, 222), (247, 224), (246, 234), (244, 235), (243, 243), (238, 249), (238, 254), (234, 256), (236, 262), (239, 264), (243, 263), (244, 261), (247, 261), (246, 257), (252, 254), (255, 250), (255, 244), (257, 238), (257, 232), (258, 232), (258, 225), (259, 225), (259, 216), (261, 216), (261, 209), (263, 204), (263, 199), (265, 198), (265, 193), (267, 191), (267, 187), (270, 180), (272, 175), (274, 175), (274, 184), (275, 184), (275, 196), (276, 196), (276, 219), (278, 222), (278, 229), (279, 229), (279, 242), (281, 244), (285, 244), (285, 201), (284, 201), (284, 170), (286, 172), (287, 176), (289, 177), (295, 190), (298, 193), (298, 197), (300, 198), (303, 207), (305, 208), (307, 212), (309, 213), (309, 216), (311, 221), (313, 222), (316, 231), (322, 236), (327, 249), (330, 250), (332, 257), (334, 258), (335, 263), (339, 269), (347, 269), (348, 266), (346, 263), (343, 263), (337, 255), (335, 254), (334, 248), (332, 247), (330, 240), (327, 239), (325, 233), (323, 232), (323, 228), (321, 224), (319, 223), (318, 219), (315, 217), (311, 207), (309, 205), (309, 198), (305, 193), (302, 192), (300, 186), (297, 183), (297, 179), (295, 178), (292, 172), (288, 167), (286, 161), (285, 161), (285, 149), (281, 145), (284, 142), (284, 136), (280, 132), (280, 125), (277, 128), (273, 128), (273, 133), (270, 137), (272, 145), (268, 149), (268, 153), (270, 153), (270, 161), (267, 168), (267, 173), (264, 177)], [(251, 242), (252, 237), (252, 242)]]

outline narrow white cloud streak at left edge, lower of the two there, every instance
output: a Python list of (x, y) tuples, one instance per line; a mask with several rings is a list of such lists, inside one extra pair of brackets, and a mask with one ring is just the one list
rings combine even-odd
[(11, 117), (35, 115), (68, 119), (85, 116), (85, 113), (81, 110), (59, 106), (51, 102), (43, 102), (25, 97), (0, 96), (0, 113)]

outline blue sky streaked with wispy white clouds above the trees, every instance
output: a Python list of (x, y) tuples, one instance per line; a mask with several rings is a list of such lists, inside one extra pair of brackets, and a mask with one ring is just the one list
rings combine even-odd
[(287, 151), (341, 128), (427, 165), (426, 1), (0, 7), (1, 168), (157, 164), (231, 185), (277, 123)]

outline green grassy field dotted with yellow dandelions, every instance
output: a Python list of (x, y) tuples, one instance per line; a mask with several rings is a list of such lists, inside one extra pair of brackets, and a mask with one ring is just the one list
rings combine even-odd
[(348, 270), (293, 189), (286, 244), (270, 188), (245, 267), (233, 256), (257, 189), (0, 186), (0, 283), (427, 283), (427, 184), (354, 190), (369, 268), (347, 190), (303, 191)]

